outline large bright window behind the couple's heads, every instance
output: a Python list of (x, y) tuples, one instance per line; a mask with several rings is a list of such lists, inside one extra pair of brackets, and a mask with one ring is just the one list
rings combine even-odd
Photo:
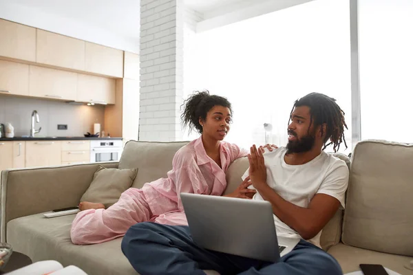
[[(230, 100), (234, 122), (227, 141), (249, 148), (268, 137), (285, 146), (293, 103), (312, 91), (336, 98), (350, 128), (348, 0), (311, 1), (198, 33), (195, 40), (189, 59), (196, 66), (184, 78), (184, 96), (209, 89)], [(266, 133), (264, 123), (273, 130)], [(340, 151), (350, 153), (350, 130), (346, 142), (348, 150), (342, 145)]]

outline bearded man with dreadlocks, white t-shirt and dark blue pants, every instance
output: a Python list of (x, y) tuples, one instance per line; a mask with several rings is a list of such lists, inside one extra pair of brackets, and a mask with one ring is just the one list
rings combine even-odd
[(263, 155), (255, 145), (251, 147), (250, 167), (244, 177), (249, 174), (257, 190), (253, 199), (271, 202), (277, 234), (301, 239), (278, 263), (205, 250), (193, 243), (187, 226), (155, 223), (133, 225), (123, 239), (123, 253), (142, 275), (204, 274), (202, 270), (220, 274), (342, 274), (337, 261), (319, 248), (319, 237), (339, 206), (344, 207), (348, 168), (323, 150), (330, 144), (335, 151), (339, 149), (345, 127), (344, 113), (335, 99), (312, 93), (294, 104), (286, 148)]

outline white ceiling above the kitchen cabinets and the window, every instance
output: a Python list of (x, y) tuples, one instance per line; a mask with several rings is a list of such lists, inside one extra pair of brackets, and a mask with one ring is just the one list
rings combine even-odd
[[(270, 2), (280, 8), (311, 0), (184, 0), (204, 19)], [(225, 15), (224, 15), (225, 16)], [(140, 0), (0, 0), (0, 18), (139, 52)], [(240, 19), (242, 20), (242, 19)]]

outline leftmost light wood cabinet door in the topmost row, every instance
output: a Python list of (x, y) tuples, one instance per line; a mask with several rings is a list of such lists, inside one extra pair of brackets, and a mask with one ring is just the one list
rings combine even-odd
[(0, 56), (36, 61), (36, 29), (0, 19)]

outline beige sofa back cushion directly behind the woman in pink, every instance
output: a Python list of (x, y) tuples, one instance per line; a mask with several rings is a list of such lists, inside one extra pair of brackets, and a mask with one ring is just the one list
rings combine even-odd
[(131, 187), (142, 188), (143, 184), (161, 177), (167, 177), (172, 168), (175, 153), (188, 142), (137, 142), (131, 140), (125, 144), (119, 160), (120, 169), (138, 168)]

